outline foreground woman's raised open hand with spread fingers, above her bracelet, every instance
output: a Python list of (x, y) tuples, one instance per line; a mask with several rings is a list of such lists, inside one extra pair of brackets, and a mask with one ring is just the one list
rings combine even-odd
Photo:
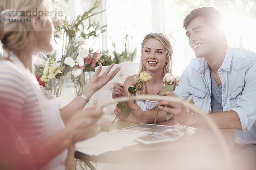
[(113, 67), (114, 64), (111, 64), (108, 69), (101, 75), (99, 76), (99, 73), (102, 70), (102, 65), (99, 65), (99, 69), (93, 74), (91, 77), (90, 81), (87, 84), (87, 87), (90, 87), (90, 89), (93, 90), (93, 93), (101, 89), (104, 85), (106, 85), (115, 75), (117, 72), (121, 69), (120, 67), (117, 67), (114, 71), (112, 71), (110, 74), (109, 71)]

